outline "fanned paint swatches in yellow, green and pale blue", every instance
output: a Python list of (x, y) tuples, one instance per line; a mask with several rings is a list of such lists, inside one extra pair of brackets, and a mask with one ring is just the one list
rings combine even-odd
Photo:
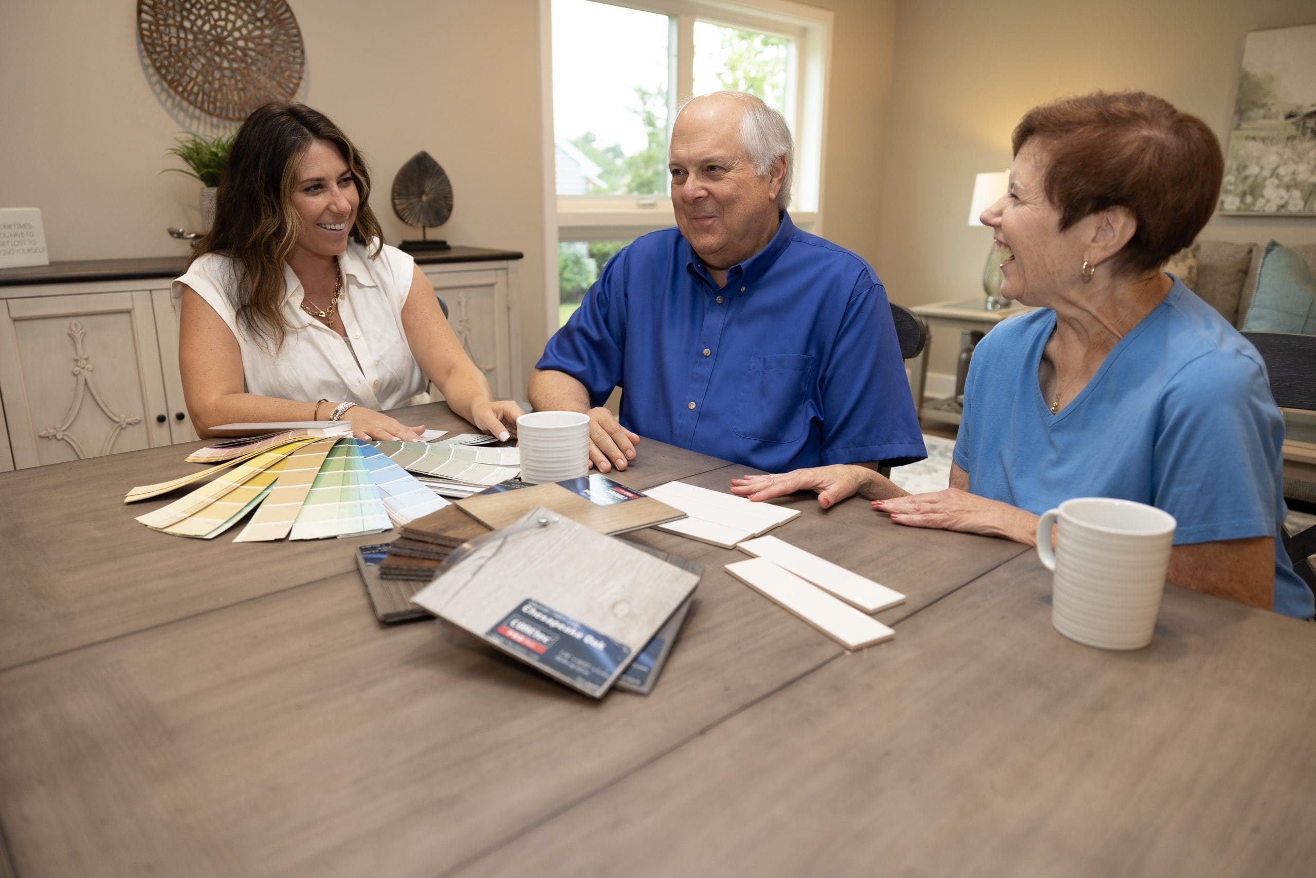
[(447, 504), (368, 444), (346, 436), (347, 428), (296, 428), (212, 445), (187, 459), (213, 466), (136, 487), (124, 502), (213, 477), (137, 520), (174, 536), (211, 540), (255, 511), (234, 542), (378, 533)]

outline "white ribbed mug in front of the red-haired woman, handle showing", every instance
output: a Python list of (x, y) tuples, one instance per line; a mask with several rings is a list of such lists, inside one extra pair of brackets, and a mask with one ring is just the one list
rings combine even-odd
[[(1051, 525), (1058, 525), (1051, 549)], [(1101, 649), (1142, 649), (1161, 612), (1174, 516), (1111, 498), (1075, 498), (1037, 523), (1037, 557), (1055, 575), (1051, 624)]]

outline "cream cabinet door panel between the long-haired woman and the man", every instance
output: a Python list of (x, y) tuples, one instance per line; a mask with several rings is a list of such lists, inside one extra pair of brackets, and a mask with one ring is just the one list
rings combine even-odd
[[(511, 316), (505, 271), (425, 271), (447, 303), (447, 323), (497, 398), (512, 395)], [(436, 399), (441, 395), (434, 394)]]

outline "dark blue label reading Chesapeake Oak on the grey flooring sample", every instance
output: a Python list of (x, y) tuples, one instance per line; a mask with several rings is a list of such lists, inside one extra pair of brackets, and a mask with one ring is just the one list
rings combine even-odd
[(607, 691), (630, 648), (526, 598), (486, 638), (595, 698)]

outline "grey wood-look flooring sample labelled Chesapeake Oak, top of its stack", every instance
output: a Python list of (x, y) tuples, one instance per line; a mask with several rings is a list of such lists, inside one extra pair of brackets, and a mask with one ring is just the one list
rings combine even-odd
[(413, 600), (603, 698), (697, 584), (697, 573), (537, 507), (463, 548)]

